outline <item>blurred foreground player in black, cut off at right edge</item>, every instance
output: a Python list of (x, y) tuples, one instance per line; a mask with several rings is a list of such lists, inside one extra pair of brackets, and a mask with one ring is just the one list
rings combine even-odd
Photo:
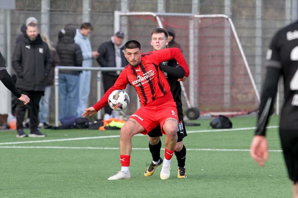
[(298, 198), (298, 21), (275, 34), (266, 59), (267, 74), (250, 154), (261, 166), (268, 159), (266, 126), (278, 80), (283, 76), (285, 101), (280, 115), (279, 134), (288, 175), (293, 182), (293, 197)]

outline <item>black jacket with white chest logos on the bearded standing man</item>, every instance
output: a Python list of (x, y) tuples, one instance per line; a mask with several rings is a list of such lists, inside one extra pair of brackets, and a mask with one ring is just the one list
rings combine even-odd
[(16, 87), (27, 91), (44, 91), (45, 77), (52, 67), (48, 45), (40, 35), (30, 40), (27, 34), (16, 43), (12, 56), (12, 66), (17, 73)]

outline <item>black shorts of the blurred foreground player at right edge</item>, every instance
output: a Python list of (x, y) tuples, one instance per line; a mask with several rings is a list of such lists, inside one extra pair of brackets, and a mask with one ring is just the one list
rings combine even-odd
[(298, 182), (298, 130), (280, 129), (280, 142), (290, 179)]

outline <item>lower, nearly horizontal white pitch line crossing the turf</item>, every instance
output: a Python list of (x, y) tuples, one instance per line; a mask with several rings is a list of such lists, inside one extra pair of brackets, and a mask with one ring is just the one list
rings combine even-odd
[[(32, 146), (0, 146), (0, 148), (33, 148), (33, 149), (100, 149), (119, 150), (116, 147), (32, 147)], [(149, 150), (148, 148), (132, 148), (132, 150)], [(164, 149), (161, 149), (164, 150)], [(186, 149), (189, 151), (250, 151), (249, 149)], [(269, 152), (282, 152), (282, 150), (269, 150)]]

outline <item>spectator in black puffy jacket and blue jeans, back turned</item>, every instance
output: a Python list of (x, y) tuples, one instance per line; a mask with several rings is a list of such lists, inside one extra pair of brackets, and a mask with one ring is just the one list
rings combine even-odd
[[(79, 45), (75, 43), (76, 28), (67, 26), (60, 37), (56, 50), (61, 66), (82, 67), (83, 56)], [(59, 119), (77, 116), (79, 104), (80, 71), (61, 70), (59, 75), (60, 115)]]

